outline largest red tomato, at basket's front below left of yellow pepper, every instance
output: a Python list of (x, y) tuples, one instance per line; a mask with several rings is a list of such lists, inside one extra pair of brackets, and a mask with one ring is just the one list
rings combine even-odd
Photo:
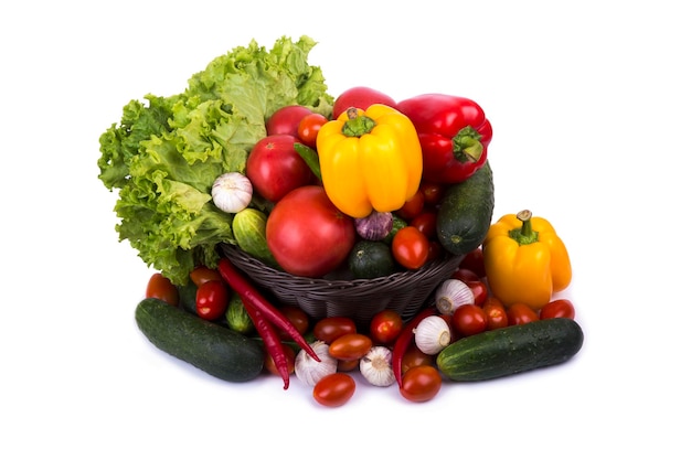
[(268, 215), (266, 243), (289, 274), (320, 278), (348, 257), (355, 243), (353, 218), (339, 211), (319, 185), (289, 192)]

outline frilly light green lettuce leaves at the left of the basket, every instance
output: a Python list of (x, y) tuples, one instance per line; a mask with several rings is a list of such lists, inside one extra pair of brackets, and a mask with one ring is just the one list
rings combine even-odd
[(119, 190), (116, 232), (148, 266), (184, 285), (194, 266), (216, 267), (220, 243), (235, 243), (233, 215), (214, 206), (211, 186), (223, 172), (245, 171), (278, 108), (330, 116), (333, 98), (307, 61), (315, 45), (284, 36), (270, 50), (238, 46), (192, 75), (183, 93), (130, 100), (100, 135), (98, 179)]

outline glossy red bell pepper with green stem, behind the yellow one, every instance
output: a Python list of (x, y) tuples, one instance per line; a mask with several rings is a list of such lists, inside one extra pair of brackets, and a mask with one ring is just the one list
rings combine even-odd
[(465, 181), (487, 161), (492, 126), (475, 101), (423, 94), (396, 108), (413, 121), (423, 150), (423, 178), (436, 183)]

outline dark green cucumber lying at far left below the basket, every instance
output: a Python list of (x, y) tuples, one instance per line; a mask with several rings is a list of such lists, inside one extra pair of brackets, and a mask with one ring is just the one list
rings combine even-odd
[(135, 320), (158, 349), (223, 381), (249, 381), (264, 366), (261, 342), (158, 299), (140, 301)]

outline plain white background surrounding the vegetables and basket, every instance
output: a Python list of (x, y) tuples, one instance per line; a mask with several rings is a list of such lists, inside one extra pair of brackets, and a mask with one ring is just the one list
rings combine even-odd
[[(683, 6), (4, 2), (0, 457), (689, 458)], [(323, 409), (295, 378), (226, 384), (140, 334), (151, 271), (117, 240), (99, 135), (235, 46), (301, 34), (332, 95), (366, 85), (485, 108), (495, 218), (529, 207), (570, 249), (565, 296), (585, 331), (573, 361), (426, 404), (362, 385)]]

